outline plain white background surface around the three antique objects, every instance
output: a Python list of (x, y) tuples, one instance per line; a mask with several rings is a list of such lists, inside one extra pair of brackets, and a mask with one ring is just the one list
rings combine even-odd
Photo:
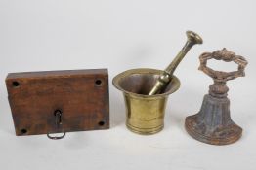
[[(256, 169), (256, 3), (253, 0), (1, 0), (1, 170)], [(127, 69), (164, 69), (186, 42), (186, 30), (204, 40), (175, 74), (182, 86), (169, 98), (165, 128), (141, 136), (125, 127), (125, 108), (112, 78)], [(212, 80), (197, 70), (204, 51), (226, 47), (249, 61), (246, 77), (228, 83), (231, 113), (243, 128), (233, 145), (211, 146), (190, 137), (184, 119), (195, 114)], [(216, 61), (231, 71), (235, 64)], [(7, 100), (9, 72), (108, 68), (111, 127), (17, 137)]]

